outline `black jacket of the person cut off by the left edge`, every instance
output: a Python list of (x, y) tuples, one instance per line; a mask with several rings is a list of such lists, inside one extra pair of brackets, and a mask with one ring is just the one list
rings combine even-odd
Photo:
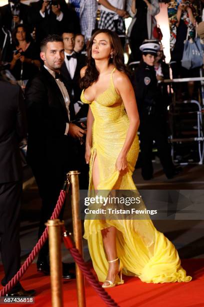
[(21, 180), (18, 144), (24, 136), (26, 124), (21, 89), (0, 81), (0, 183)]

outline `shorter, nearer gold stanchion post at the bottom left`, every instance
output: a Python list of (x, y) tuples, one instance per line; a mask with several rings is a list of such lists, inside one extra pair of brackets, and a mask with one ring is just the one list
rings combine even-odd
[(61, 264), (61, 226), (60, 220), (48, 220), (49, 263), (52, 307), (62, 307), (62, 264)]

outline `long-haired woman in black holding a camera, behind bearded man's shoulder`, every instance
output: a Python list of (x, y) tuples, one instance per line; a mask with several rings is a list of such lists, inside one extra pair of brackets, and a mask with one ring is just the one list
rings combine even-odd
[(10, 71), (16, 80), (28, 80), (39, 69), (39, 52), (24, 25), (18, 25), (13, 31), (13, 51)]

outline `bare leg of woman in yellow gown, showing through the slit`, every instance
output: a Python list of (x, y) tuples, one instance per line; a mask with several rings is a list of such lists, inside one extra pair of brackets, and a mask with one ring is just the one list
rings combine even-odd
[[(99, 184), (99, 170), (98, 170), (98, 160), (97, 155), (93, 161), (92, 167), (92, 181), (94, 189), (97, 190), (97, 186)], [(101, 230), (103, 246), (107, 255), (107, 260), (111, 261), (117, 258), (116, 251), (116, 228), (111, 226)], [(107, 272), (107, 280), (115, 281), (116, 274), (118, 272), (118, 261), (108, 263), (108, 272)], [(104, 282), (104, 285), (109, 285), (108, 282)]]

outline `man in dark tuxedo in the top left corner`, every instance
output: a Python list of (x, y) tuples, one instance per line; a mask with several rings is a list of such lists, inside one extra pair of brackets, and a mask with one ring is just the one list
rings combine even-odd
[(0, 14), (2, 16), (2, 25), (9, 31), (13, 31), (19, 24), (24, 24), (29, 27), (32, 32), (31, 25), (31, 9), (20, 3), (20, 0), (8, 0), (8, 4), (0, 7)]

